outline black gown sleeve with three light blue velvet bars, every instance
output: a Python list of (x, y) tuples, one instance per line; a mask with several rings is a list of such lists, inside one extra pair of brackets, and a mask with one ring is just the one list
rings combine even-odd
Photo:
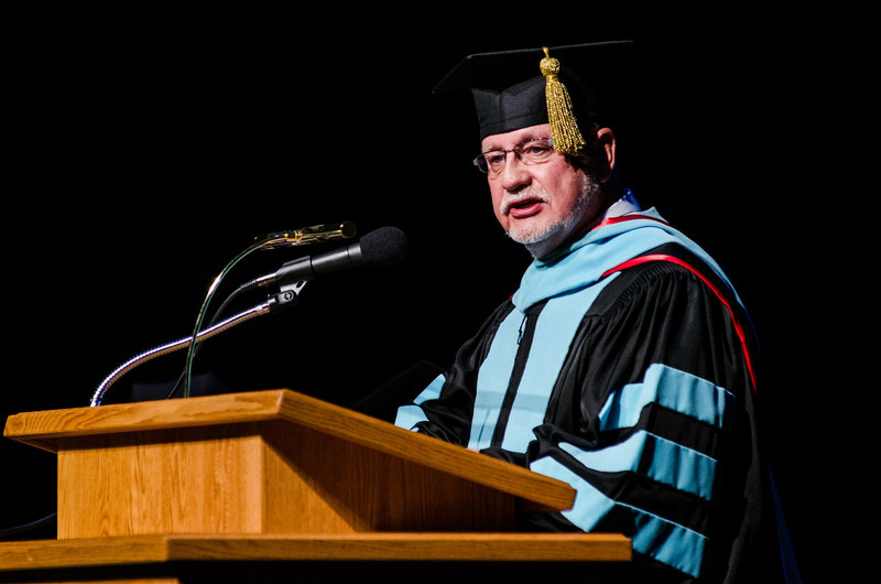
[(762, 508), (736, 315), (675, 264), (634, 269), (609, 292), (585, 317), (525, 455), (570, 484), (575, 505), (536, 521), (622, 532), (634, 552), (706, 576), (739, 553)]

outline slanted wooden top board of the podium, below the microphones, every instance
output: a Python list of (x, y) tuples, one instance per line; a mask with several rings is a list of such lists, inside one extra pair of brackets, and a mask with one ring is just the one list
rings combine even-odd
[(553, 509), (569, 509), (575, 500), (575, 489), (561, 480), (289, 389), (25, 412), (9, 417), (3, 435), (58, 452), (76, 436), (278, 420)]

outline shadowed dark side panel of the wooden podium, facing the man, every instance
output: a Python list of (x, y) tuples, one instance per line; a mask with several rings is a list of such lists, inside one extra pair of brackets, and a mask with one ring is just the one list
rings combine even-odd
[(514, 528), (516, 501), (509, 494), (292, 424), (272, 422), (263, 436), (269, 445), (264, 532)]

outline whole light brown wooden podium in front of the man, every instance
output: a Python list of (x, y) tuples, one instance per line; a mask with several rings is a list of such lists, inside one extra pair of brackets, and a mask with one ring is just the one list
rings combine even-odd
[(616, 534), (516, 531), (572, 506), (564, 483), (284, 389), (21, 413), (4, 435), (57, 454), (57, 539), (0, 543), (0, 582), (630, 559)]

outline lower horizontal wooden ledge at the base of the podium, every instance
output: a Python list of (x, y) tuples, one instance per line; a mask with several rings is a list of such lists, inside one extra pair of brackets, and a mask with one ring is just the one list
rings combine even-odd
[(630, 541), (602, 533), (135, 536), (0, 543), (0, 570), (173, 561), (622, 562)]

